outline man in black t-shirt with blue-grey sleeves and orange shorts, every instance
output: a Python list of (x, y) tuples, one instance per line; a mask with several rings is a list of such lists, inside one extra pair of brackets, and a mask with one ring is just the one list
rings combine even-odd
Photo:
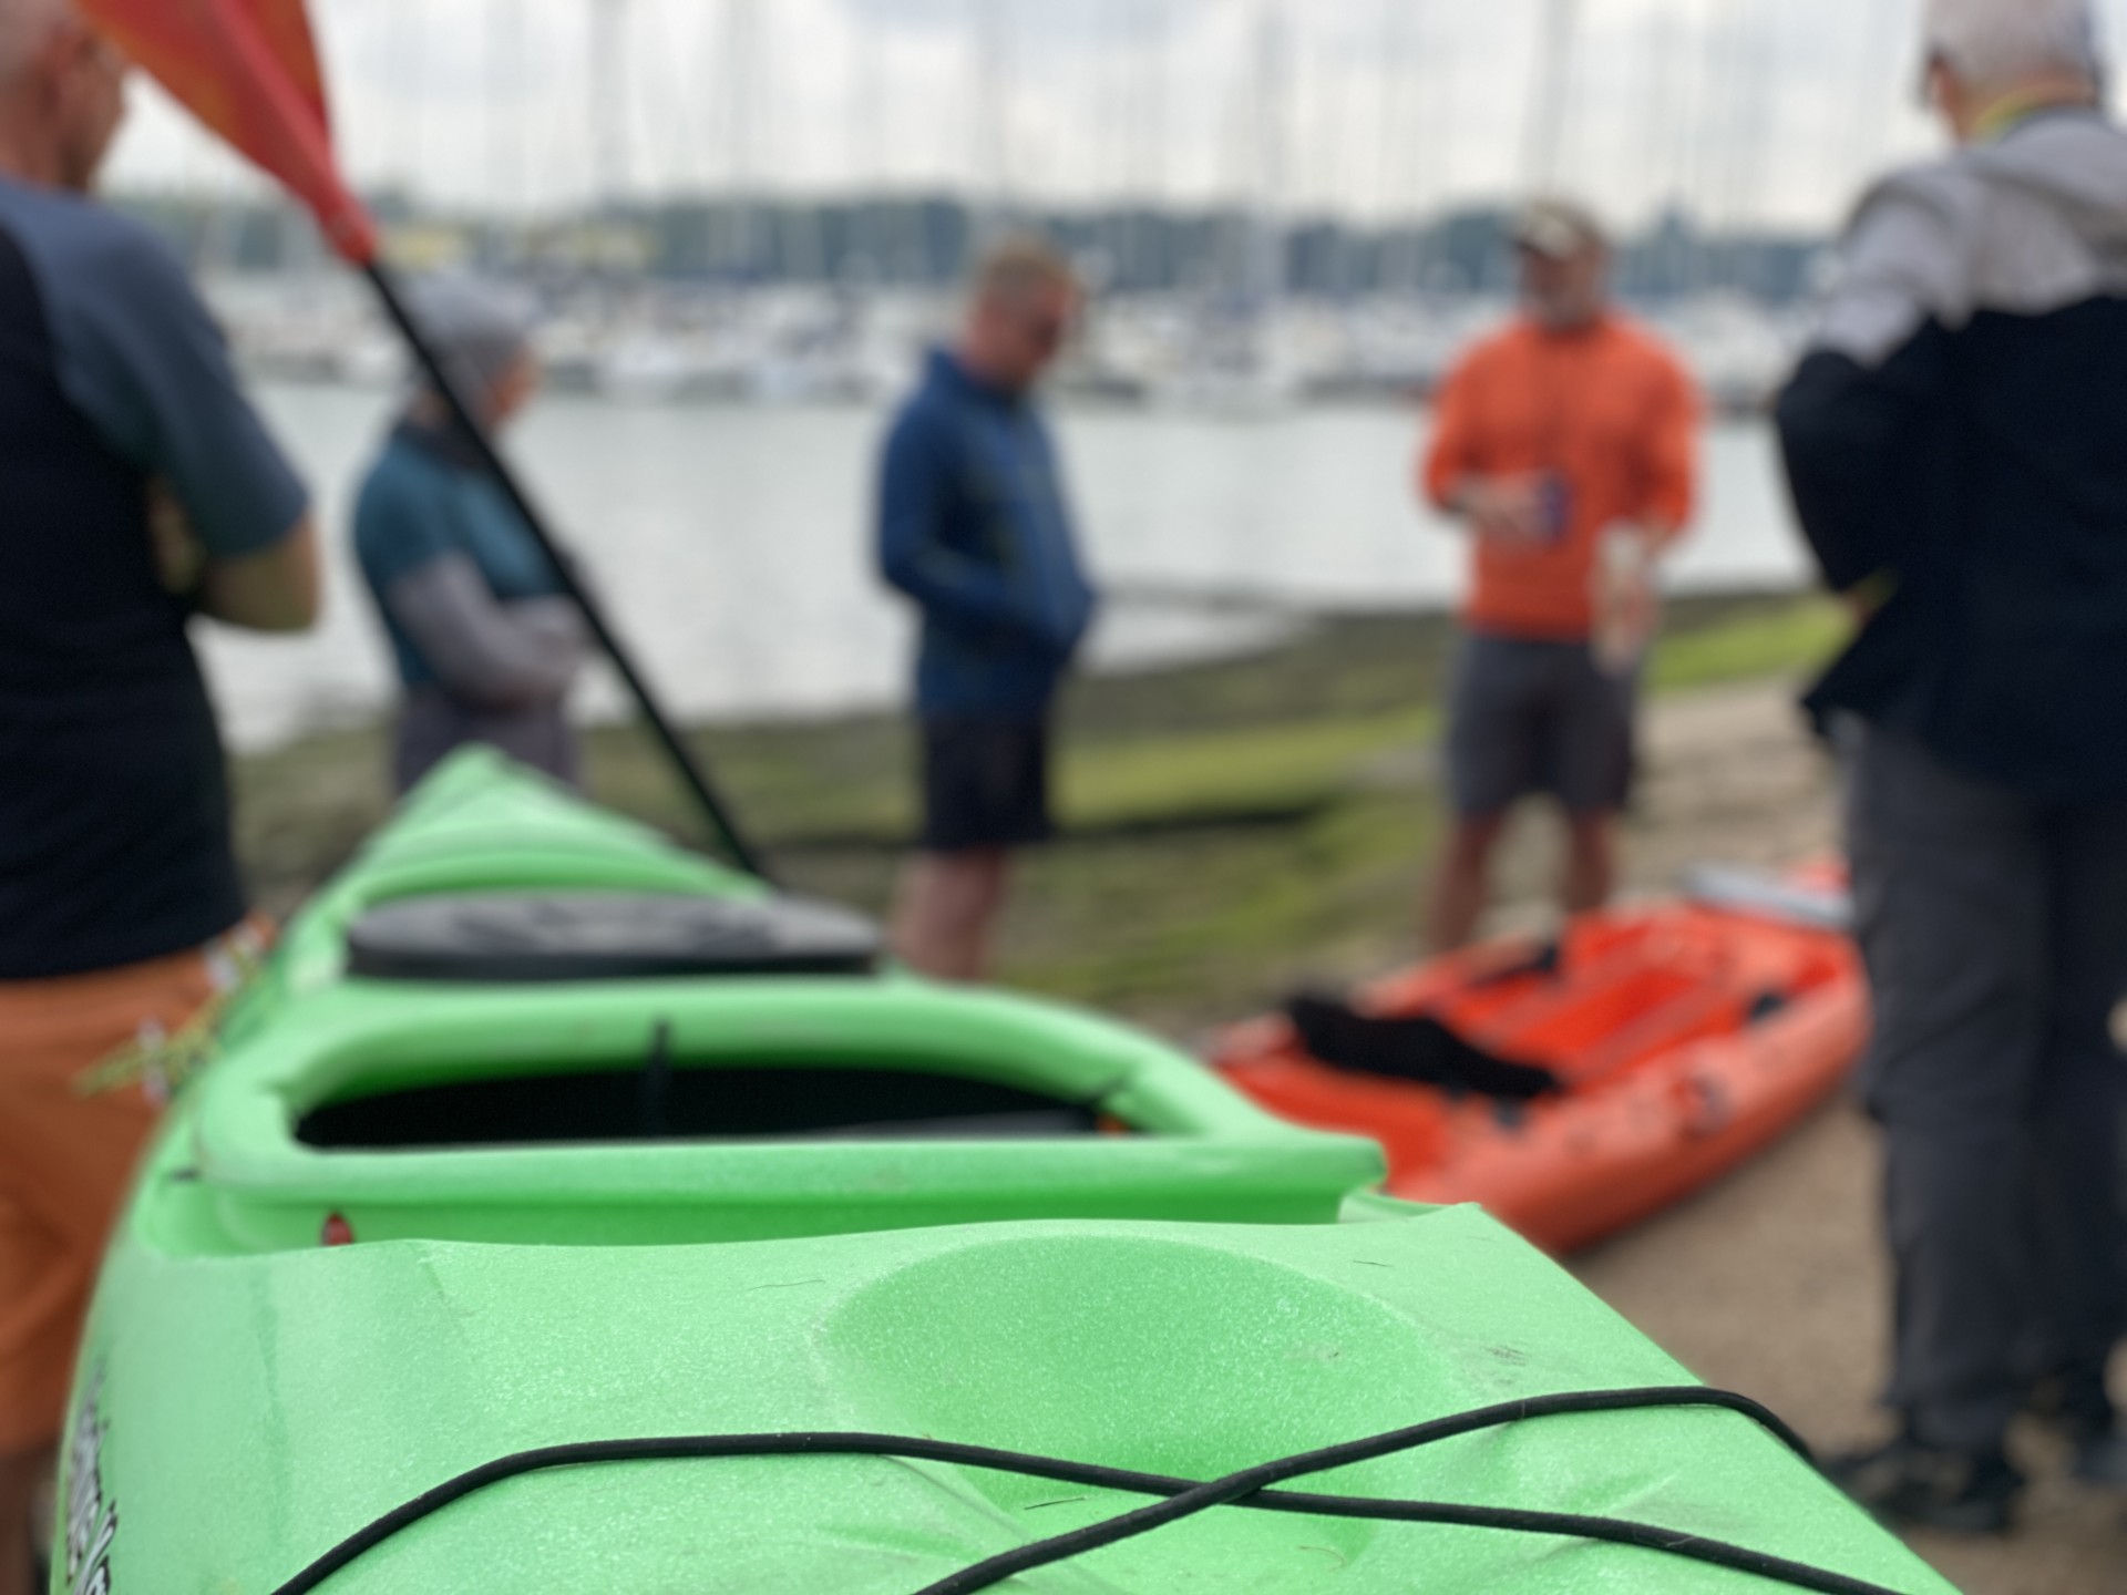
[(317, 617), (308, 500), (177, 262), (85, 196), (125, 62), (0, 0), (0, 1595), (104, 1229), (153, 1121), (83, 1070), (181, 1025), (245, 934), (187, 625)]

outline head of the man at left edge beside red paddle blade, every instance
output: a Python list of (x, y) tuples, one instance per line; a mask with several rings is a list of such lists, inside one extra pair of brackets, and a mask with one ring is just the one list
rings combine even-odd
[(91, 189), (125, 119), (125, 57), (74, 0), (0, 0), (0, 172)]

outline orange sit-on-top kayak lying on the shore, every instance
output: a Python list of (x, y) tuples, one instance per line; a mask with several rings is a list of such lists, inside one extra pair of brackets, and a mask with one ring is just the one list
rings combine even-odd
[(1389, 1191), (1478, 1202), (1572, 1250), (1744, 1161), (1838, 1089), (1868, 991), (1831, 880), (1702, 872), (1234, 1029), (1215, 1063), (1287, 1119), (1389, 1153)]

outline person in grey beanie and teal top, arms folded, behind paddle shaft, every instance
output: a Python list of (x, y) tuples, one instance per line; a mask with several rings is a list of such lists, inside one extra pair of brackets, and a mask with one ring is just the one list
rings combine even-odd
[[(527, 315), (464, 281), (421, 285), (415, 315), (491, 432), (523, 410), (538, 389)], [(566, 706), (585, 659), (583, 617), (428, 387), (415, 391), (362, 485), (355, 555), (404, 689), (391, 759), (398, 789), (468, 742), (574, 785)]]

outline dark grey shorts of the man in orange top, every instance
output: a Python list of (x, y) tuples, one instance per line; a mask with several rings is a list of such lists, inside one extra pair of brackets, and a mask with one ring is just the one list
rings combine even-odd
[(1587, 642), (1463, 638), (1448, 693), (1448, 791), (1463, 819), (1551, 793), (1570, 815), (1631, 797), (1638, 674), (1612, 676)]

